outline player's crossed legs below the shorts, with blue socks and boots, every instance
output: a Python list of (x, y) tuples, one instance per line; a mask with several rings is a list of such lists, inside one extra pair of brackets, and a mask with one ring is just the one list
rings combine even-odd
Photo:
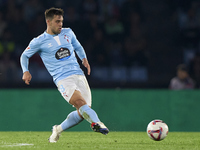
[(49, 138), (50, 143), (57, 142), (61, 132), (79, 124), (83, 118), (91, 123), (91, 128), (95, 132), (108, 134), (108, 128), (100, 122), (96, 112), (87, 105), (79, 91), (74, 92), (69, 103), (74, 105), (77, 111), (71, 112), (60, 125), (53, 126), (52, 135)]

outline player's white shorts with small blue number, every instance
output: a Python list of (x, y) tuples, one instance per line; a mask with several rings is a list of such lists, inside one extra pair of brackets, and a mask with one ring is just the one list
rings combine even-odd
[(65, 79), (58, 81), (58, 90), (63, 98), (69, 103), (75, 90), (81, 92), (82, 97), (86, 103), (91, 106), (91, 91), (87, 79), (84, 75), (71, 75)]

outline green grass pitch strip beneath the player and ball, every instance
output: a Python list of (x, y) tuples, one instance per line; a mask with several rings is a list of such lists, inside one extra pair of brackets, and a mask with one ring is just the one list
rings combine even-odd
[(49, 143), (51, 132), (0, 132), (0, 150), (200, 150), (199, 132), (169, 132), (163, 141), (145, 132), (63, 132)]

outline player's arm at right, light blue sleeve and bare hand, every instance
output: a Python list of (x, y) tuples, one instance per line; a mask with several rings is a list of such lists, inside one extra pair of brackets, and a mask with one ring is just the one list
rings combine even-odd
[(76, 38), (76, 35), (72, 31), (72, 45), (75, 48), (75, 52), (77, 53), (78, 57), (82, 60), (83, 66), (87, 68), (87, 73), (90, 75), (90, 64), (88, 63), (85, 50), (83, 49), (82, 45), (79, 43), (79, 41)]

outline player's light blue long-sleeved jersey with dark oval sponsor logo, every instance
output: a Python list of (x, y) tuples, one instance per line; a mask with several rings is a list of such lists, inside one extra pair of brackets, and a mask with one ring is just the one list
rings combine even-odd
[(74, 51), (81, 60), (86, 58), (83, 47), (70, 28), (62, 28), (58, 35), (50, 35), (45, 31), (34, 38), (22, 53), (20, 63), (23, 73), (28, 71), (29, 58), (38, 52), (55, 84), (73, 74), (83, 75)]

